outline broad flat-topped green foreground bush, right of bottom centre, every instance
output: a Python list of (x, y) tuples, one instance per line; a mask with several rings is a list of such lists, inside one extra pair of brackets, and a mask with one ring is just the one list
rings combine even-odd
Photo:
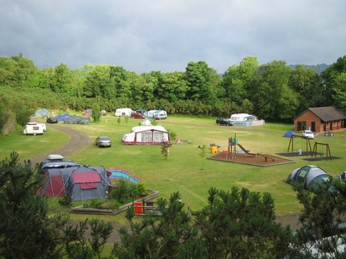
[(269, 193), (211, 188), (208, 206), (196, 213), (208, 258), (284, 258), (291, 231), (274, 222), (274, 211)]

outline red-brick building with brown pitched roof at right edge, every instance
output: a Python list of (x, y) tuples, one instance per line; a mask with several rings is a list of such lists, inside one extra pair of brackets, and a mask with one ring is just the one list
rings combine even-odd
[(342, 131), (346, 127), (346, 116), (333, 106), (308, 108), (295, 117), (294, 131), (311, 130), (316, 133)]

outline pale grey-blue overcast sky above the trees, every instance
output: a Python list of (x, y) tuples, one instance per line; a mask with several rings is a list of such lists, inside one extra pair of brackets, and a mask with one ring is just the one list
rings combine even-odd
[(39, 68), (122, 66), (224, 73), (260, 64), (332, 64), (346, 55), (345, 0), (0, 0), (0, 56)]

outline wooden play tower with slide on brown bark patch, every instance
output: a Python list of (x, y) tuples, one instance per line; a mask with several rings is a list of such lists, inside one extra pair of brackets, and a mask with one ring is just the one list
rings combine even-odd
[[(238, 148), (238, 149), (237, 149)], [(211, 153), (216, 153), (208, 157), (210, 160), (219, 160), (224, 162), (234, 162), (241, 164), (251, 164), (253, 166), (274, 166), (278, 164), (293, 163), (292, 160), (287, 160), (275, 155), (268, 155), (264, 153), (251, 153), (244, 146), (239, 144), (237, 134), (235, 137), (228, 138), (228, 150), (215, 152), (215, 146), (211, 146)]]

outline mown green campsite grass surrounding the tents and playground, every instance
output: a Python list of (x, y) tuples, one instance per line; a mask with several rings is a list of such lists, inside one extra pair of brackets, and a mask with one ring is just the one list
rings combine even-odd
[[(189, 140), (188, 144), (173, 144), (167, 160), (161, 155), (161, 146), (125, 146), (121, 144), (122, 135), (129, 133), (133, 126), (138, 126), (140, 119), (125, 119), (117, 121), (117, 117), (108, 115), (102, 117), (100, 123), (91, 125), (64, 125), (83, 131), (90, 136), (89, 145), (68, 157), (81, 164), (91, 166), (120, 167), (134, 173), (142, 179), (147, 189), (160, 191), (161, 198), (169, 198), (170, 194), (179, 191), (185, 205), (190, 205), (192, 210), (206, 206), (208, 190), (210, 187), (230, 190), (232, 186), (246, 187), (251, 191), (260, 193), (268, 192), (275, 200), (276, 215), (299, 213), (300, 204), (295, 198), (291, 186), (286, 184), (287, 175), (296, 167), (315, 164), (325, 169), (330, 175), (336, 176), (346, 170), (345, 150), (346, 133), (336, 133), (334, 137), (317, 136), (311, 140), (327, 143), (331, 155), (342, 157), (338, 160), (308, 162), (305, 157), (285, 157), (294, 163), (277, 166), (251, 166), (230, 162), (208, 160), (209, 145), (215, 143), (226, 150), (228, 137), (235, 133), (242, 144), (254, 153), (267, 153), (276, 155), (286, 153), (289, 138), (283, 137), (286, 131), (292, 128), (291, 124), (272, 124), (264, 126), (217, 126), (214, 118), (200, 117), (174, 117), (158, 121), (178, 138)], [(98, 135), (108, 135), (112, 140), (111, 148), (98, 148), (94, 139)], [(11, 151), (17, 151), (21, 160), (30, 159), (40, 153), (54, 150), (69, 142), (69, 136), (53, 128), (49, 128), (43, 136), (22, 136), (20, 133), (0, 137), (0, 158), (8, 157)], [(198, 146), (207, 146), (206, 157), (201, 156)], [(295, 152), (298, 148), (305, 149), (304, 140), (295, 140)], [(318, 149), (318, 152), (322, 150)], [(325, 153), (325, 151), (323, 151)], [(54, 202), (53, 202), (54, 203)], [(75, 218), (81, 215), (73, 216)], [(106, 217), (107, 218), (107, 217)], [(113, 216), (113, 220), (122, 221), (122, 215)]]

